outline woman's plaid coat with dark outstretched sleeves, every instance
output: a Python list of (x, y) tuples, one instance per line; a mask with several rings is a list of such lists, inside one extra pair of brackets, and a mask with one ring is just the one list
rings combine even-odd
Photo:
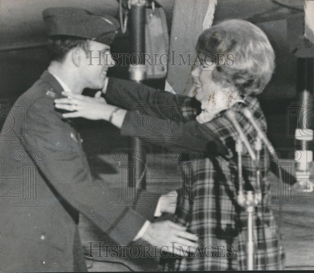
[[(196, 122), (200, 103), (187, 96), (156, 91), (145, 85), (121, 79), (109, 80), (106, 100), (110, 104), (131, 110), (135, 102), (141, 101), (147, 105), (150, 99), (163, 99), (167, 105), (175, 102), (181, 106), (182, 136), (176, 140), (176, 145), (199, 148), (204, 152), (203, 159), (193, 164), (193, 187), (182, 191), (186, 193), (187, 198), (181, 200), (176, 210), (176, 221), (187, 226), (187, 231), (198, 234), (199, 250), (194, 253), (194, 257), (169, 257), (162, 259), (161, 263), (165, 270), (246, 270), (247, 214), (236, 198), (239, 182), (235, 139), (238, 134), (234, 126), (226, 118), (225, 112), (219, 112), (208, 123)], [(264, 131), (266, 121), (256, 98), (247, 97), (244, 104), (238, 103), (231, 107), (236, 112), (237, 120), (251, 146), (254, 147), (256, 131), (242, 114), (245, 106), (251, 109), (254, 119)], [(134, 127), (142, 126), (141, 123), (134, 123), (134, 120), (132, 123), (131, 116), (129, 111), (121, 128), (122, 134), (129, 135)], [(161, 122), (164, 124), (164, 120)], [(177, 125), (173, 123), (171, 126), (175, 128)], [(213, 149), (209, 145), (216, 145), (216, 148)], [(227, 156), (220, 146), (228, 148)], [(265, 157), (266, 153), (262, 151), (260, 169), (263, 202), (256, 207), (254, 213), (254, 265), (255, 269), (260, 270), (283, 269), (284, 254), (278, 228), (267, 207), (270, 185), (269, 166)], [(246, 189), (254, 189), (255, 166), (247, 153), (242, 156), (242, 161)], [(189, 196), (193, 196), (194, 201), (203, 205), (191, 206), (192, 200)]]

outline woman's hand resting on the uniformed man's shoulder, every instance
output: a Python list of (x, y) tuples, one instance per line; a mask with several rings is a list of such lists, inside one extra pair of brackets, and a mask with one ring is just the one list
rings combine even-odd
[(62, 116), (65, 118), (84, 117), (92, 120), (108, 120), (111, 112), (116, 108), (106, 103), (106, 100), (101, 97), (101, 91), (98, 91), (94, 98), (68, 92), (62, 92), (62, 95), (67, 96), (67, 98), (55, 99), (55, 107), (74, 111), (64, 113)]

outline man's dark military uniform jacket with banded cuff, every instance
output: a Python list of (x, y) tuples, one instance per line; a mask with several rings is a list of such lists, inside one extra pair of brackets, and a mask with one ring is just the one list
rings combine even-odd
[(45, 71), (7, 111), (0, 136), (1, 272), (86, 271), (79, 213), (122, 245), (147, 219), (112, 206), (121, 190), (92, 180), (80, 135), (54, 108), (61, 92)]

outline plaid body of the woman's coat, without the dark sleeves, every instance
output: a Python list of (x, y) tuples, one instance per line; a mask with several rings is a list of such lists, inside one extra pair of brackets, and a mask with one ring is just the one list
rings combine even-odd
[[(256, 131), (242, 111), (248, 106), (264, 131), (266, 121), (256, 98), (232, 106), (252, 147)], [(191, 112), (192, 113), (192, 112)], [(169, 257), (161, 262), (165, 270), (247, 270), (247, 213), (237, 202), (239, 187), (234, 126), (220, 112), (206, 126), (228, 147), (229, 156), (207, 155), (193, 164), (193, 187), (186, 188), (193, 198), (183, 198), (177, 205), (176, 221), (187, 231), (198, 234), (199, 249), (191, 257)], [(268, 169), (266, 150), (261, 152), (262, 202), (253, 213), (254, 269), (284, 269), (284, 253), (273, 214), (268, 210)], [(242, 173), (246, 190), (256, 190), (256, 167), (247, 152), (242, 156)], [(190, 191), (190, 192), (189, 192)], [(189, 196), (189, 195), (187, 195)], [(191, 195), (190, 195), (191, 196)], [(200, 202), (203, 205), (198, 206)]]

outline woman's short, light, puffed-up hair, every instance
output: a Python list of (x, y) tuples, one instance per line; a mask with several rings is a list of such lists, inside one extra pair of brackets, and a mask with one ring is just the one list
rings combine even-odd
[(263, 92), (275, 68), (275, 53), (266, 34), (245, 20), (225, 20), (204, 30), (196, 50), (200, 56), (233, 54), (234, 63), (217, 66), (213, 80), (234, 85), (243, 97)]

